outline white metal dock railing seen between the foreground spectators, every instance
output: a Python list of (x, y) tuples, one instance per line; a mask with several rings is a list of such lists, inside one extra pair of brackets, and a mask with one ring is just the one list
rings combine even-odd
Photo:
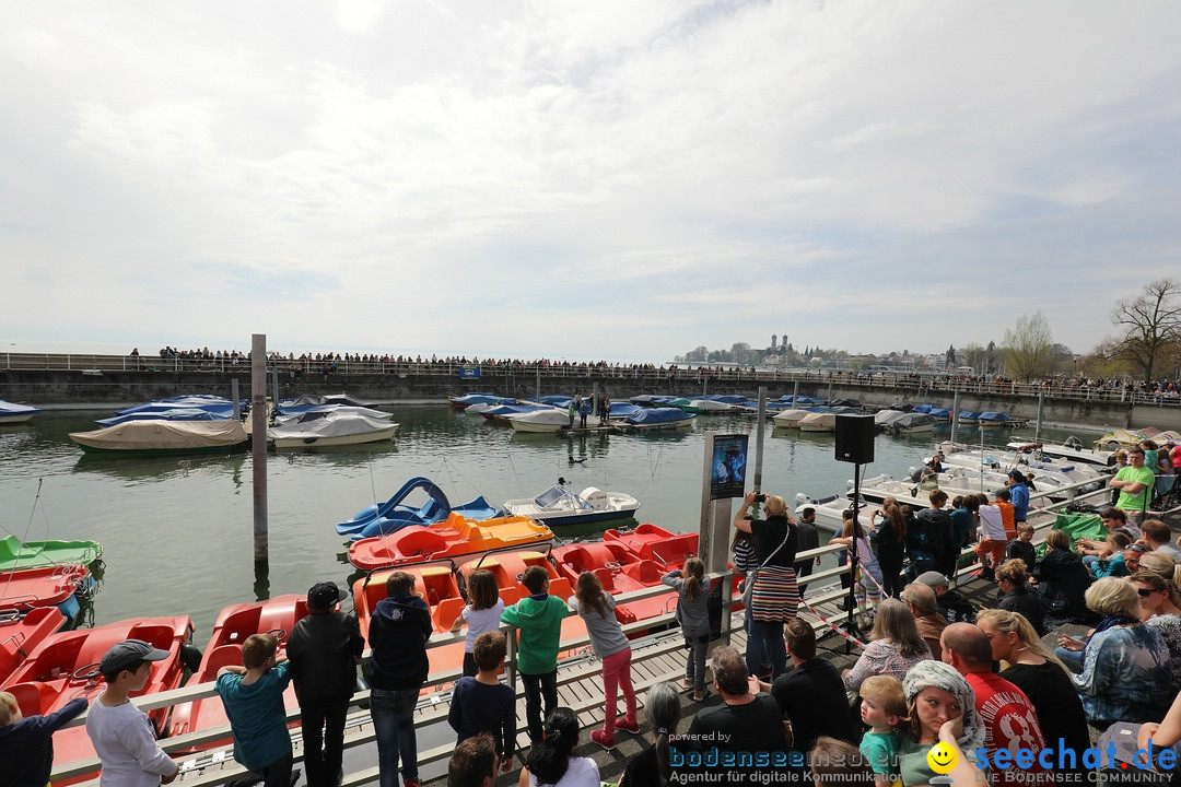
[[(1062, 488), (1050, 491), (1033, 492), (1030, 498), (1033, 501), (1044, 500), (1048, 505), (1039, 507), (1031, 507), (1031, 524), (1035, 525), (1035, 530), (1038, 531), (1036, 539), (1042, 540), (1044, 531), (1053, 525), (1057, 517), (1058, 510), (1064, 509), (1071, 501), (1091, 499), (1103, 497), (1105, 499), (1108, 490), (1098, 490), (1090, 492), (1088, 494), (1075, 497), (1075, 492), (1078, 490), (1094, 484), (1094, 481), (1079, 481), (1072, 484), (1070, 487), (1064, 487), (1068, 492), (1069, 498), (1066, 500), (1049, 503), (1049, 496), (1058, 496), (1063, 492)], [(831, 555), (843, 549), (841, 545), (824, 545), (815, 550), (807, 550), (798, 552), (797, 560), (805, 560), (824, 555)], [(964, 550), (964, 553), (971, 553), (971, 547)], [(957, 576), (965, 576), (976, 571), (979, 566), (966, 565), (957, 571)], [(833, 566), (826, 568), (816, 571), (807, 577), (807, 584), (809, 585), (809, 592), (807, 593), (808, 605), (813, 609), (820, 608), (828, 603), (840, 603), (846, 598), (848, 591), (842, 589), (840, 584), (820, 586), (822, 582), (828, 579), (839, 578), (841, 575), (848, 572), (848, 566)], [(711, 582), (720, 582), (723, 590), (726, 588), (732, 589), (733, 572), (726, 571), (723, 573), (710, 575)], [(670, 589), (664, 585), (657, 585), (653, 588), (647, 588), (645, 590), (638, 590), (628, 593), (620, 593), (614, 596), (616, 605), (624, 605), (628, 602), (640, 601), (644, 598), (652, 598), (655, 596), (661, 596), (668, 593)], [(740, 597), (731, 593), (729, 611), (731, 614), (724, 614), (722, 616), (723, 627), (723, 641), (727, 641), (729, 635), (735, 630), (735, 609), (740, 606)], [(648, 629), (657, 629), (660, 627), (676, 627), (674, 621), (674, 608), (676, 604), (670, 604), (670, 608), (665, 612), (654, 618), (647, 618), (644, 621), (638, 621), (635, 623), (629, 623), (624, 627), (624, 631), (627, 634), (634, 634), (635, 631), (644, 631)], [(834, 617), (834, 623), (843, 622), (843, 612), (833, 611), (836, 610), (835, 606), (830, 608), (830, 615)], [(823, 636), (829, 632), (830, 625), (818, 618), (815, 615), (807, 611), (803, 605), (801, 605), (801, 614), (809, 619), (813, 629), (817, 632), (817, 636)], [(740, 623), (738, 624), (740, 625)], [(521, 699), (516, 681), (516, 636), (515, 629), (508, 625), (503, 625), (502, 630), (508, 635), (509, 642), (509, 654), (505, 658), (505, 673), (509, 686), (517, 691), (517, 699)], [(443, 648), (446, 645), (454, 645), (456, 643), (462, 643), (464, 641), (465, 632), (461, 631), (457, 634), (441, 634), (435, 635), (426, 643), (428, 649)], [(587, 677), (598, 675), (599, 667), (595, 664), (593, 656), (589, 654), (590, 640), (588, 636), (580, 636), (573, 640), (563, 640), (560, 645), (560, 670), (559, 670), (559, 687), (585, 680)], [(680, 637), (679, 630), (671, 628), (666, 631), (658, 634), (650, 634), (632, 641), (632, 663), (639, 664), (645, 663), (651, 660), (658, 660), (671, 652), (679, 652), (683, 650), (684, 642)], [(372, 656), (371, 650), (366, 650), (363, 656), (363, 663), (367, 663)], [(658, 674), (648, 678), (635, 680), (637, 693), (642, 693), (650, 686), (659, 681), (673, 681), (678, 682), (683, 675), (684, 667), (678, 662), (678, 668), (676, 671), (666, 671), (665, 674)], [(422, 728), (429, 724), (435, 724), (438, 722), (446, 721), (446, 714), (449, 709), (449, 703), (451, 699), (450, 686), (454, 684), (462, 676), (462, 670), (451, 669), (442, 673), (433, 673), (428, 677), (426, 687), (435, 687), (436, 690), (424, 695), (419, 699), (418, 708), (416, 711), (415, 726), (416, 728)], [(182, 704), (187, 702), (194, 702), (196, 700), (205, 700), (209, 697), (216, 697), (217, 694), (214, 689), (214, 682), (201, 683), (197, 686), (181, 687), (169, 691), (159, 691), (156, 694), (150, 694), (148, 696), (137, 697), (132, 702), (139, 709), (144, 711), (155, 710), (158, 708), (169, 708), (176, 704)], [(370, 723), (370, 716), (367, 710), (364, 708), (368, 703), (370, 693), (368, 690), (358, 690), (352, 699), (351, 706), (352, 710), (346, 722), (346, 736), (345, 747), (352, 748), (357, 746), (363, 746), (370, 743), (374, 740), (373, 727)], [(601, 708), (602, 697), (601, 696), (587, 696), (572, 704), (575, 711), (588, 711), (595, 708)], [(299, 709), (287, 710), (288, 721), (295, 721), (299, 719)], [(76, 727), (84, 724), (86, 720), (85, 714), (78, 719), (72, 720), (66, 727)], [(215, 748), (207, 748), (196, 753), (185, 753), (195, 747), (210, 746), (217, 741), (224, 741), (230, 735), (230, 728), (228, 724), (203, 729), (195, 733), (188, 733), (184, 735), (178, 735), (174, 737), (161, 739), (161, 747), (176, 758), (181, 762), (181, 774), (177, 778), (176, 783), (185, 786), (214, 786), (214, 785), (226, 785), (233, 782), (237, 779), (243, 778), (247, 772), (244, 768), (239, 766), (233, 760), (231, 749), (226, 746), (218, 746)], [(518, 741), (521, 740), (518, 734)], [(302, 735), (301, 730), (296, 727), (292, 729), (292, 739), (295, 750), (296, 762), (302, 760)], [(450, 758), (451, 752), (455, 749), (454, 742), (448, 742), (443, 746), (436, 746), (430, 749), (422, 749), (418, 753), (419, 765), (426, 765), (432, 762), (439, 762)], [(376, 759), (376, 758), (374, 758)], [(86, 774), (94, 773), (99, 767), (99, 761), (97, 758), (90, 758), (86, 760), (78, 760), (74, 762), (54, 763), (53, 773), (51, 780), (57, 782), (64, 779), (77, 779), (79, 776), (85, 776)], [(342, 787), (360, 787), (361, 785), (376, 783), (378, 779), (378, 769), (374, 765), (372, 768), (359, 770), (352, 774), (347, 774), (342, 782)], [(84, 782), (84, 787), (97, 787), (98, 781), (92, 780)]]

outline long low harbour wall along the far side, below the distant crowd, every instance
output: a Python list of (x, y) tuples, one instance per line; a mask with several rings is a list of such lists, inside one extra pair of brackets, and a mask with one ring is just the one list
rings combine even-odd
[[(231, 380), (239, 381), (239, 395), (249, 398), (250, 369), (242, 365), (236, 370), (0, 370), (0, 399), (35, 405), (45, 409), (63, 406), (78, 408), (93, 405), (102, 409), (107, 405), (146, 402), (154, 399), (181, 394), (218, 394), (229, 396)], [(273, 394), (268, 378), (268, 395)], [(613, 400), (639, 394), (668, 394), (697, 398), (703, 385), (686, 379), (638, 379), (625, 372), (619, 374), (587, 374), (555, 369), (541, 376), (543, 394), (589, 395), (598, 385), (601, 394)], [(769, 399), (791, 394), (795, 382), (757, 383), (755, 381), (709, 380), (709, 393), (736, 393), (753, 398), (758, 385), (765, 385)], [(881, 408), (895, 402), (931, 402), (951, 407), (953, 394), (948, 391), (916, 392), (914, 387), (882, 385), (882, 382), (800, 382), (800, 393), (809, 396), (855, 399), (862, 406)], [(531, 398), (537, 393), (535, 372), (484, 369), (479, 380), (461, 380), (457, 375), (426, 374), (415, 372), (333, 373), (325, 378), (320, 373), (292, 375), (279, 373), (281, 399), (301, 394), (348, 393), (360, 399), (381, 402), (439, 401), (448, 396), (474, 391), (491, 391), (504, 396)], [(960, 409), (1005, 411), (1011, 415), (1026, 418), (1031, 422), (1037, 417), (1038, 399), (1033, 395), (960, 392)], [(1181, 427), (1181, 411), (1175, 406), (1156, 406), (1104, 400), (1081, 400), (1046, 398), (1043, 418), (1048, 422), (1091, 426), (1096, 429), (1155, 426), (1157, 428)]]

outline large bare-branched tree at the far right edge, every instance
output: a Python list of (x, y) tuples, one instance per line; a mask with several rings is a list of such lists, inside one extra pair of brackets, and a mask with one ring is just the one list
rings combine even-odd
[(1121, 330), (1116, 353), (1131, 362), (1143, 380), (1176, 356), (1181, 345), (1181, 281), (1157, 278), (1134, 299), (1116, 301), (1111, 322)]

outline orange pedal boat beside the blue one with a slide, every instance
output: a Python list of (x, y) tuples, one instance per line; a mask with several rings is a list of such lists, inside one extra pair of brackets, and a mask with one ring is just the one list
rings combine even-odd
[(433, 525), (409, 525), (389, 536), (363, 538), (348, 547), (348, 560), (363, 571), (450, 558), (456, 565), (498, 549), (548, 546), (554, 533), (526, 517), (477, 522), (452, 512)]

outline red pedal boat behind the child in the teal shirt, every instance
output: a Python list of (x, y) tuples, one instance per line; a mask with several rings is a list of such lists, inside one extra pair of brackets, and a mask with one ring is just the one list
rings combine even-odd
[[(273, 634), (279, 640), (278, 655), (285, 656), (287, 637), (291, 636), (295, 624), (307, 615), (307, 597), (302, 593), (288, 593), (261, 602), (227, 606), (217, 615), (213, 636), (201, 656), (201, 665), (193, 671), (185, 686), (217, 680), (217, 670), (222, 667), (241, 667), (242, 643), (253, 634)], [(283, 691), (283, 704), (288, 710), (299, 708), (294, 686), (288, 686)], [(226, 707), (221, 699), (208, 697), (174, 706), (168, 720), (168, 734), (184, 735), (228, 723), (229, 719), (226, 716)], [(299, 722), (288, 726), (298, 727)], [(224, 740), (209, 741), (189, 750), (217, 748), (228, 745), (229, 740), (227, 736)]]

